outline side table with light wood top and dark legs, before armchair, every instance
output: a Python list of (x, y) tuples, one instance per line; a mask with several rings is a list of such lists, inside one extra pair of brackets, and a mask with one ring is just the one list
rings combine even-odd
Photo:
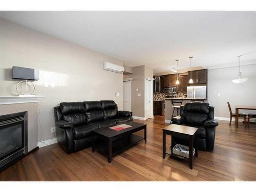
[[(163, 159), (166, 153), (166, 135), (172, 137), (172, 145), (170, 146), (170, 157), (188, 159), (189, 168), (193, 169), (193, 145), (195, 141), (195, 156), (198, 157), (198, 147), (197, 147), (197, 131), (198, 128), (184, 125), (171, 124), (163, 129)], [(189, 143), (189, 157), (181, 157), (173, 153), (173, 147), (175, 146), (175, 140), (173, 137), (178, 137), (181, 139), (188, 140)]]

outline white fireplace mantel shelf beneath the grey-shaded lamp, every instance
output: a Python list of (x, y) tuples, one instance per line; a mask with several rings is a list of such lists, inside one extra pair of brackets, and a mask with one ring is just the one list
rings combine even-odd
[(0, 105), (38, 102), (42, 98), (45, 98), (45, 96), (0, 96)]

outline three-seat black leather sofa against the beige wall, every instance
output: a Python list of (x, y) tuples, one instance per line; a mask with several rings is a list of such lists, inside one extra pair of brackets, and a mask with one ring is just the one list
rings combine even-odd
[(132, 112), (118, 111), (114, 101), (62, 102), (54, 107), (56, 136), (67, 153), (92, 145), (92, 131), (133, 121)]

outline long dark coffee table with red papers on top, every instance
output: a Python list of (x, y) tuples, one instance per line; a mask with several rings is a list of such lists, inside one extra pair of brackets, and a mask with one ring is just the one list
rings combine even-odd
[[(109, 127), (93, 131), (92, 151), (94, 152), (96, 148), (99, 152), (105, 154), (108, 157), (109, 163), (112, 161), (113, 155), (116, 155), (124, 151), (126, 148), (133, 146), (134, 144), (138, 143), (143, 139), (146, 142), (146, 124), (137, 123), (133, 121), (128, 121), (119, 124), (127, 124), (131, 125), (131, 127), (120, 131), (112, 130)], [(140, 130), (144, 130), (144, 137), (140, 137), (138, 135), (133, 134)], [(104, 140), (104, 142), (96, 144), (96, 137)]]

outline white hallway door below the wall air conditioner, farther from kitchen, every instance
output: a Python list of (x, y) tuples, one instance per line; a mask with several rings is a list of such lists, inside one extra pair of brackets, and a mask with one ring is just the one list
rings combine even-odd
[(132, 81), (123, 81), (123, 111), (132, 111)]

